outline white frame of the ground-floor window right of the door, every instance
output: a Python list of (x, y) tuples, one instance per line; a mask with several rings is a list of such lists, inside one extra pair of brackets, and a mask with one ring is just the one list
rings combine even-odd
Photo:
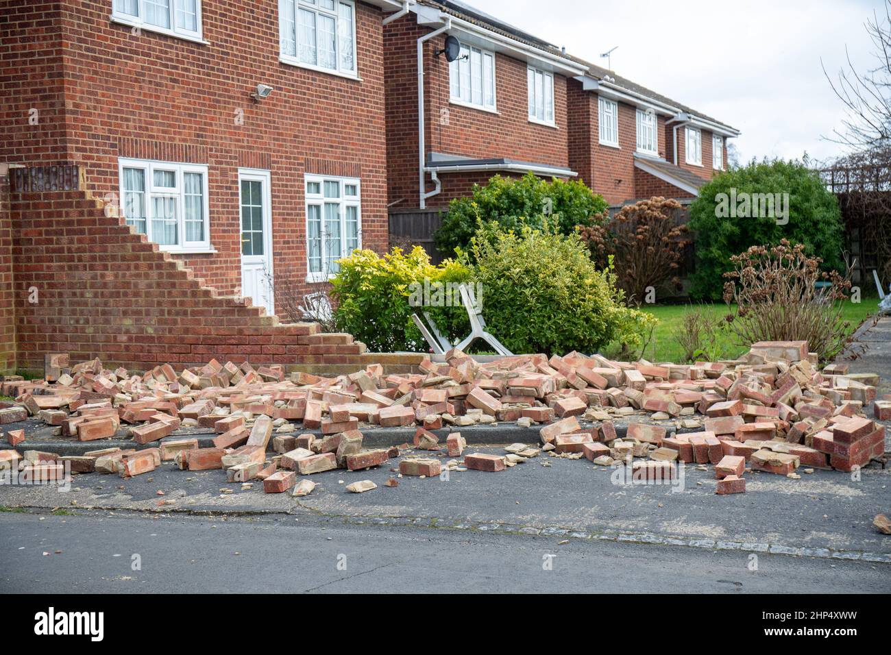
[[(334, 199), (327, 198), (325, 196), (324, 191), (324, 183), (325, 182), (338, 182), (339, 183), (339, 198), (336, 202), (339, 203), (339, 224), (340, 224), (340, 254), (336, 256), (333, 260), (333, 257), (328, 250), (329, 247), (326, 246), (326, 220), (324, 213), (325, 203), (331, 203)], [(317, 183), (319, 184), (319, 192), (318, 193), (310, 193), (309, 192), (309, 184)], [(356, 194), (347, 196), (347, 184), (355, 184), (356, 185)], [(328, 282), (332, 277), (336, 274), (336, 271), (331, 270), (331, 264), (333, 261), (337, 259), (347, 257), (352, 250), (361, 249), (362, 248), (362, 180), (358, 177), (348, 177), (348, 176), (326, 176), (326, 175), (318, 175), (315, 173), (306, 173), (303, 176), (303, 189), (304, 189), (304, 209), (306, 211), (306, 242), (307, 242), (307, 282)], [(319, 257), (320, 263), (318, 271), (311, 270), (311, 265), (309, 261), (309, 208), (311, 206), (319, 207), (319, 220), (321, 221), (321, 225), (319, 225)], [(356, 246), (354, 249), (347, 251), (347, 207), (355, 207), (356, 208)]]

